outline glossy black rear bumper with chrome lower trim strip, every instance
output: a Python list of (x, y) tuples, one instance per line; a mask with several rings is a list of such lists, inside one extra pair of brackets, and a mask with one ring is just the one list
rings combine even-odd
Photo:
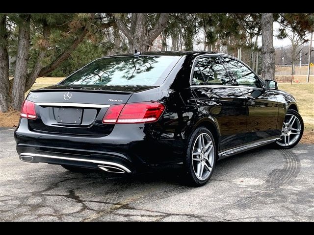
[(151, 165), (182, 162), (183, 141), (154, 139), (147, 134), (150, 128), (119, 124), (104, 137), (63, 136), (31, 131), (27, 119), (21, 118), (14, 136), (20, 159), (31, 163), (98, 169), (106, 165), (109, 170), (114, 169), (111, 166), (133, 173)]

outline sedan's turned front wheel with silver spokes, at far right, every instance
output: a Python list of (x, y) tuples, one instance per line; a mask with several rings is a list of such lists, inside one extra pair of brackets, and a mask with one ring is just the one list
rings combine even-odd
[(301, 140), (303, 131), (304, 123), (301, 115), (295, 110), (289, 109), (284, 119), (282, 137), (273, 144), (274, 147), (279, 149), (293, 148)]

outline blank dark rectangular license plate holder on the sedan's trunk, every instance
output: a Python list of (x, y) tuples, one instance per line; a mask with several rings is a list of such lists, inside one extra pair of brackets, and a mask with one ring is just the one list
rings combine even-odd
[(57, 108), (56, 120), (58, 123), (80, 124), (82, 113), (81, 108)]

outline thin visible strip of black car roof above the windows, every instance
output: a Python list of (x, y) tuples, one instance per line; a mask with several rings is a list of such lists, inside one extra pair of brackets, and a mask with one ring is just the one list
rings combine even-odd
[[(205, 55), (205, 54), (216, 54), (216, 55), (227, 55), (220, 52), (213, 52), (213, 51), (148, 51), (143, 52), (141, 55), (143, 56), (163, 56), (163, 55), (170, 55), (170, 56), (191, 56), (195, 57), (198, 55)], [(120, 57), (120, 56), (133, 56), (133, 53), (126, 53), (126, 54), (116, 54), (116, 55), (109, 55), (105, 57)]]

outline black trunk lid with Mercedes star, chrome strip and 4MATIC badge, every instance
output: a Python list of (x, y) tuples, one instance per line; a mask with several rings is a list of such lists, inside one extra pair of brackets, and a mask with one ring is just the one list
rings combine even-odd
[(109, 135), (114, 124), (103, 124), (110, 105), (125, 104), (135, 92), (152, 86), (54, 85), (31, 91), (37, 119), (28, 119), (35, 132), (60, 135)]

